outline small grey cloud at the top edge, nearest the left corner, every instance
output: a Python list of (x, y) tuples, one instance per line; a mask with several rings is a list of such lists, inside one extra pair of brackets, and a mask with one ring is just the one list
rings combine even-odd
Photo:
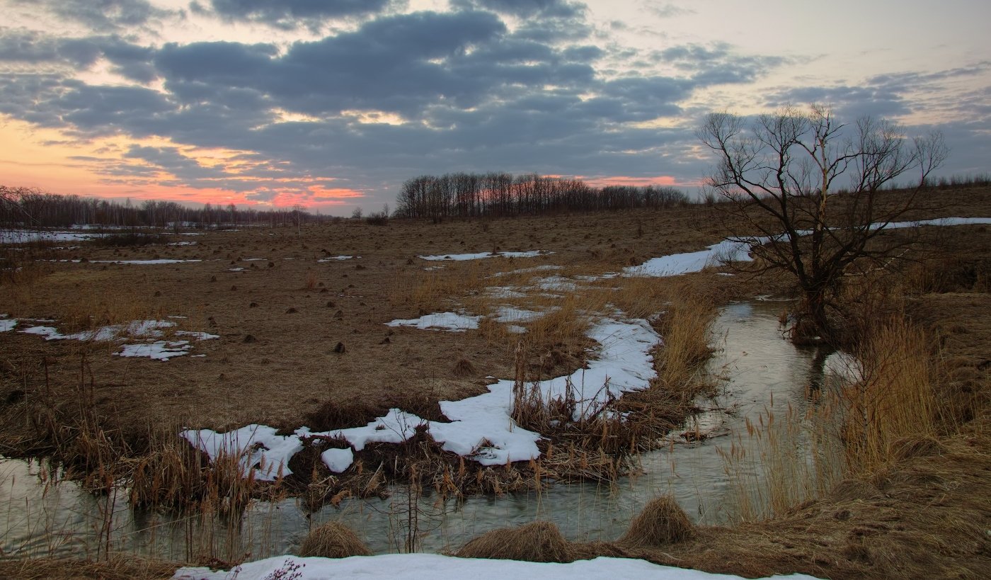
[(114, 32), (148, 24), (175, 12), (152, 6), (148, 0), (15, 0), (42, 7), (58, 18), (88, 26), (97, 32)]

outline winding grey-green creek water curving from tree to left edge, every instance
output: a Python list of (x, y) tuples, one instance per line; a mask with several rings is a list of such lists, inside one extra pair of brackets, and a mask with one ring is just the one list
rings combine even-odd
[[(742, 432), (772, 400), (805, 405), (806, 393), (822, 379), (825, 354), (800, 349), (782, 338), (780, 303), (753, 301), (723, 307), (713, 329), (719, 349), (709, 370), (725, 377), (724, 392), (703, 402), (711, 410), (693, 419), (700, 428)], [(687, 425), (691, 428), (693, 425)], [(683, 441), (678, 437), (673, 440)], [(554, 486), (540, 493), (439, 502), (413, 498), (417, 549), (455, 549), (472, 537), (534, 520), (556, 523), (570, 539), (614, 539), (646, 502), (671, 494), (698, 522), (726, 519), (729, 480), (717, 447), (732, 437), (672, 443), (642, 457), (642, 474), (609, 489), (597, 484)], [(737, 441), (739, 444), (739, 441)], [(397, 488), (385, 500), (342, 502), (307, 516), (294, 500), (258, 504), (241, 522), (201, 517), (180, 520), (136, 513), (119, 497), (94, 497), (71, 483), (42, 485), (38, 463), (0, 460), (0, 555), (129, 551), (165, 559), (191, 560), (201, 554), (259, 558), (294, 551), (311, 525), (330, 519), (347, 523), (377, 553), (402, 551), (408, 540), (410, 499)]]

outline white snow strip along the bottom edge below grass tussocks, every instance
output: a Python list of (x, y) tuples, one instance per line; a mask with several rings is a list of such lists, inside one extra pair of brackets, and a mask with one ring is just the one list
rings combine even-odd
[[(280, 572), (281, 571), (281, 572)], [(298, 576), (294, 575), (297, 574)], [(521, 562), (518, 560), (487, 560), (457, 558), (439, 554), (384, 554), (381, 556), (351, 556), (350, 558), (300, 558), (275, 556), (246, 562), (230, 572), (209, 568), (179, 568), (173, 580), (264, 580), (266, 578), (383, 578), (396, 577), (434, 580), (436, 578), (472, 578), (473, 580), (505, 580), (506, 578), (542, 578), (543, 580), (574, 580), (576, 578), (609, 578), (610, 580), (716, 580), (735, 579), (731, 574), (712, 574), (700, 570), (652, 564), (646, 560), (599, 557), (577, 560), (567, 564), (553, 562)], [(812, 579), (804, 574), (771, 576), (771, 578)]]

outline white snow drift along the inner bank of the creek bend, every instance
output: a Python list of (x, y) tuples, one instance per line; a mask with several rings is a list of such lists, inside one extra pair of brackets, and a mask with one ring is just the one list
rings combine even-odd
[[(569, 389), (579, 402), (576, 419), (598, 412), (608, 400), (626, 391), (646, 389), (656, 376), (650, 349), (661, 340), (646, 320), (603, 319), (592, 326), (589, 336), (602, 347), (599, 357), (567, 377), (537, 384), (544, 401), (562, 399)], [(289, 459), (302, 449), (303, 437), (343, 437), (355, 451), (370, 442), (401, 443), (425, 425), (445, 450), (478, 461), (482, 465), (504, 465), (540, 456), (540, 433), (520, 428), (511, 418), (512, 385), (509, 379), (489, 386), (489, 393), (461, 401), (440, 402), (450, 422), (428, 421), (415, 414), (392, 408), (385, 416), (367, 425), (312, 432), (307, 427), (289, 435), (276, 435), (275, 429), (252, 424), (218, 433), (211, 429), (180, 433), (190, 443), (215, 459), (219, 454), (242, 456), (245, 470), (255, 469), (255, 478), (272, 481), (291, 473)], [(353, 456), (342, 449), (327, 449), (324, 463), (332, 471), (350, 467)]]

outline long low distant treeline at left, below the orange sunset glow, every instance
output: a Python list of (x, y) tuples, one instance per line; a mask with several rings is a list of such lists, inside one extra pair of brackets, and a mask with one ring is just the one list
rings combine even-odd
[(233, 203), (185, 207), (174, 201), (142, 201), (132, 205), (78, 195), (47, 193), (28, 187), (0, 185), (0, 224), (21, 227), (71, 225), (217, 228), (244, 224), (291, 225), (317, 219), (305, 210), (238, 209)]

